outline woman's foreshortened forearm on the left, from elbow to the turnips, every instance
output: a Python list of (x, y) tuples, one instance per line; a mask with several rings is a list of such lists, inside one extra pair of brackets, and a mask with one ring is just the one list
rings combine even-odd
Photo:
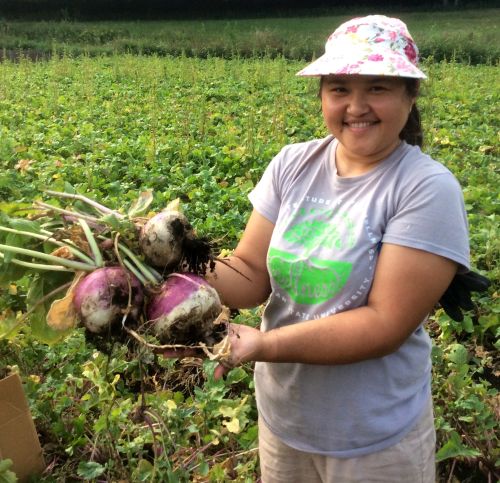
[(264, 303), (271, 291), (267, 271), (258, 270), (237, 256), (216, 263), (207, 274), (221, 301), (230, 308), (250, 308)]

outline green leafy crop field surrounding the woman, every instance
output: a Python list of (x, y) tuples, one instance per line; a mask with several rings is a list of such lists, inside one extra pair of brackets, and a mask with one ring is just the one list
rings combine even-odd
[[(417, 32), (419, 22), (433, 22), (430, 15), (409, 19)], [(332, 19), (322, 21), (318, 32), (327, 32)], [(194, 35), (182, 25), (177, 32)], [(481, 42), (498, 35), (488, 28), (477, 31)], [(161, 43), (160, 23), (134, 29), (137, 39)], [(275, 31), (263, 24), (259, 35), (267, 45)], [(326, 134), (317, 80), (295, 76), (300, 60), (262, 50), (258, 58), (228, 59), (58, 53), (0, 63), (0, 217), (50, 200), (46, 189), (74, 190), (118, 210), (151, 189), (151, 209), (179, 198), (198, 233), (231, 250), (249, 214), (246, 195), (271, 158), (286, 143)], [(493, 481), (500, 472), (499, 89), (491, 60), (426, 59), (429, 80), (419, 99), (425, 150), (460, 180), (472, 264), (493, 281), (463, 323), (441, 309), (429, 321), (443, 483)], [(164, 360), (133, 345), (106, 353), (81, 329), (61, 338), (36, 311), (26, 314), (40, 283), (8, 280), (7, 268), (0, 259), (0, 360), (25, 383), (48, 463), (38, 481), (257, 480), (251, 365), (214, 381), (210, 361)], [(237, 319), (256, 325), (258, 315), (242, 311)]]

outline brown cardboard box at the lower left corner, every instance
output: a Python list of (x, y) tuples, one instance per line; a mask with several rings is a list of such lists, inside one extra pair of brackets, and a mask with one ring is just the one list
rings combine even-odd
[(11, 459), (20, 482), (45, 469), (42, 448), (24, 394), (21, 378), (0, 380), (0, 459)]

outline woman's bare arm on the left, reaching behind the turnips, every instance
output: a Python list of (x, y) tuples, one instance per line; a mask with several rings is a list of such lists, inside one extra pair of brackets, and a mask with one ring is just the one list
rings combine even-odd
[(266, 256), (274, 224), (254, 211), (245, 232), (226, 263), (217, 263), (207, 280), (219, 292), (224, 305), (231, 308), (256, 307), (267, 300), (271, 292)]

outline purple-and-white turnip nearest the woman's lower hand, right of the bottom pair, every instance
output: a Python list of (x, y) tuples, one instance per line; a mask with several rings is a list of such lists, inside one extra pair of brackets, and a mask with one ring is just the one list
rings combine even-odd
[(173, 273), (152, 296), (148, 324), (164, 344), (216, 342), (214, 321), (222, 311), (217, 291), (193, 273)]

